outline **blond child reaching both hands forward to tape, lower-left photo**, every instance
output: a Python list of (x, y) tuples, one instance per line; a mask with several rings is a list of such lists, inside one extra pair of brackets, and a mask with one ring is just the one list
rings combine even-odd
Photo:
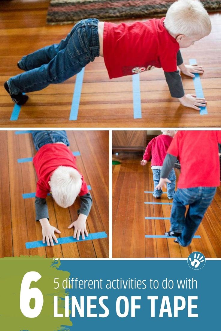
[(55, 236), (61, 233), (49, 223), (48, 208), (46, 203), (47, 194), (51, 192), (55, 202), (63, 208), (67, 208), (75, 202), (79, 195), (81, 207), (76, 221), (68, 226), (74, 227), (74, 238), (79, 240), (88, 236), (86, 219), (92, 205), (92, 198), (82, 174), (76, 166), (76, 157), (68, 146), (70, 145), (65, 131), (32, 131), (34, 147), (37, 151), (33, 158), (33, 164), (38, 177), (35, 212), (36, 220), (42, 226), (42, 241), (47, 245), (54, 245), (53, 239), (58, 243)]

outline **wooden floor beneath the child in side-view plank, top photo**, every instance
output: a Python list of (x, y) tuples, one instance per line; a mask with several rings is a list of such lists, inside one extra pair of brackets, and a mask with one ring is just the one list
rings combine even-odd
[[(22, 0), (20, 1), (22, 2)], [(205, 68), (201, 83), (208, 100), (208, 115), (185, 108), (170, 97), (161, 69), (140, 74), (142, 118), (134, 119), (132, 77), (109, 80), (103, 58), (96, 58), (85, 68), (79, 115), (70, 121), (75, 77), (62, 84), (28, 93), (17, 121), (10, 121), (13, 104), (3, 83), (21, 73), (18, 60), (34, 50), (58, 43), (72, 28), (69, 25), (47, 26), (47, 0), (33, 1), (19, 7), (10, 1), (0, 13), (0, 127), (212, 127), (221, 118), (221, 14), (210, 15), (209, 36), (182, 50), (185, 63), (195, 58)], [(14, 4), (14, 5), (13, 5)], [(3, 5), (3, 4), (1, 4)], [(0, 6), (1, 6), (0, 5)], [(14, 6), (14, 8), (13, 8)], [(118, 22), (118, 21), (115, 21)], [(130, 20), (129, 22), (132, 22)], [(193, 79), (183, 77), (187, 93), (194, 93)]]

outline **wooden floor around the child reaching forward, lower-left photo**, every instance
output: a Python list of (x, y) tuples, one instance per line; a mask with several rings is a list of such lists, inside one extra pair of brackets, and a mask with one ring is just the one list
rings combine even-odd
[[(15, 131), (0, 131), (0, 257), (109, 257), (109, 132), (67, 131), (67, 134), (70, 149), (81, 153), (77, 156), (77, 166), (91, 186), (93, 204), (87, 218), (87, 230), (90, 233), (105, 231), (108, 238), (55, 245), (53, 248), (26, 249), (25, 243), (42, 240), (42, 233), (40, 223), (35, 221), (34, 198), (22, 197), (23, 193), (36, 190), (33, 164), (18, 164), (17, 159), (34, 156), (35, 150), (31, 134), (16, 135)], [(47, 197), (47, 204), (50, 223), (61, 231), (60, 236), (73, 235), (73, 229), (67, 227), (77, 219), (79, 198), (66, 209), (59, 207), (51, 197)]]

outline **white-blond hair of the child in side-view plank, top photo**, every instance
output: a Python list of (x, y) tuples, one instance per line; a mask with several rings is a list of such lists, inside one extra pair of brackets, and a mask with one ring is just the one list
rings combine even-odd
[(209, 15), (198, 0), (174, 2), (167, 11), (164, 25), (174, 35), (205, 37), (211, 32)]

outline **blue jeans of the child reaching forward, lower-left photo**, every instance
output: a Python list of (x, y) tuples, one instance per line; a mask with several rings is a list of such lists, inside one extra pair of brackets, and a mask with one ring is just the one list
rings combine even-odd
[(33, 143), (36, 151), (38, 151), (43, 145), (54, 144), (54, 143), (64, 143), (69, 146), (69, 140), (66, 131), (58, 130), (35, 130), (32, 131)]

